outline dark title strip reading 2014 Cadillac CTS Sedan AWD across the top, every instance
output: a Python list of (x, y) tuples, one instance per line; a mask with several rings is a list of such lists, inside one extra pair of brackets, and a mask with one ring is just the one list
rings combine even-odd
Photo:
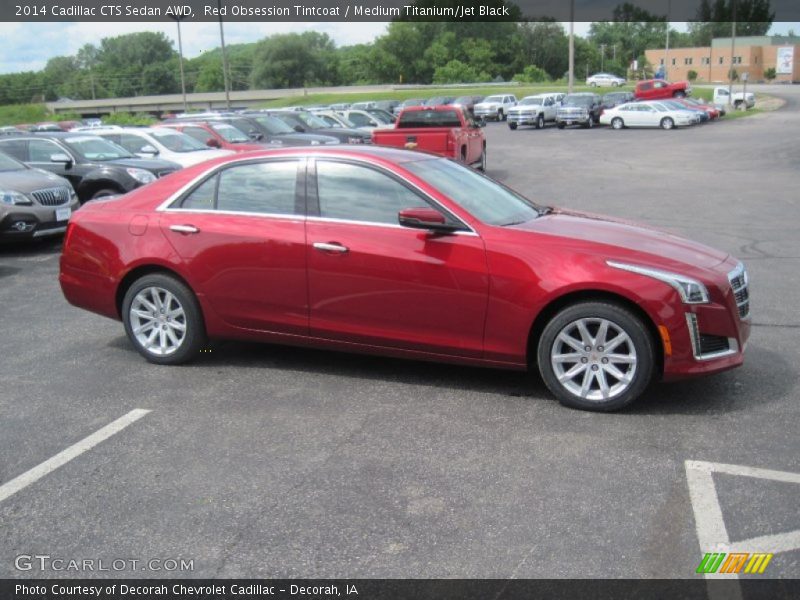
[[(2, 21), (611, 21), (698, 20), (703, 0), (0, 0)], [(711, 3), (713, 5), (713, 2)], [(775, 22), (800, 20), (800, 1), (771, 0)], [(744, 10), (745, 6), (742, 5)], [(637, 11), (636, 9), (640, 9)], [(644, 11), (644, 12), (641, 12)], [(748, 20), (741, 14), (739, 20)]]

